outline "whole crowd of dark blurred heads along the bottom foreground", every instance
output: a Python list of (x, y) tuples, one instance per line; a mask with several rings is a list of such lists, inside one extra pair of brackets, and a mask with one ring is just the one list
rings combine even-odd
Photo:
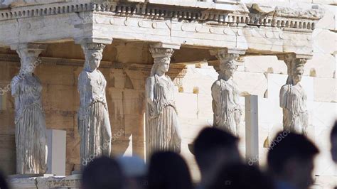
[[(281, 136), (279, 138), (278, 136)], [(95, 158), (82, 172), (82, 189), (308, 189), (313, 185), (314, 158), (319, 148), (301, 134), (279, 132), (267, 153), (267, 168), (245, 163), (239, 139), (206, 127), (193, 142), (200, 169), (193, 182), (181, 155), (158, 151), (145, 164), (141, 158)], [(337, 121), (331, 131), (331, 157), (337, 163)], [(0, 188), (9, 186), (0, 173)]]

